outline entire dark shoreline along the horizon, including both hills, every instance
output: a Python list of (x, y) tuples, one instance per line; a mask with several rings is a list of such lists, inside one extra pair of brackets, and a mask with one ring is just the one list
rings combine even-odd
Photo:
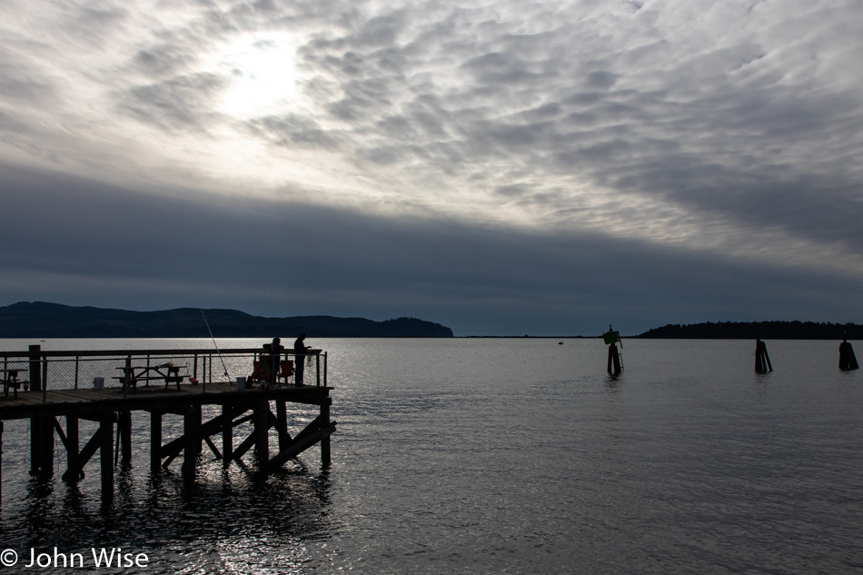
[[(383, 322), (327, 315), (268, 318), (236, 310), (178, 308), (130, 312), (74, 307), (48, 302), (0, 306), (0, 338), (459, 338), (459, 339), (598, 339), (595, 335), (459, 335), (440, 323), (413, 317)], [(667, 340), (861, 340), (863, 325), (831, 322), (700, 322), (669, 323), (624, 339)]]

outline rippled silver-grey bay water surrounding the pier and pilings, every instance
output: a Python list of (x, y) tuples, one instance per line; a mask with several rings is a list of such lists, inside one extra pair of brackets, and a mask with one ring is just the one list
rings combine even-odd
[[(0, 559), (19, 561), (0, 569), (120, 549), (146, 565), (104, 572), (863, 573), (863, 375), (838, 370), (838, 342), (767, 342), (759, 375), (754, 341), (624, 340), (617, 377), (598, 339), (307, 343), (329, 352), (326, 469), (312, 448), (262, 479), (204, 448), (193, 483), (179, 460), (153, 474), (136, 412), (104, 502), (97, 457), (66, 485), (57, 440), (55, 478), (31, 478), (27, 421), (5, 421)], [(181, 433), (166, 417), (165, 441)]]

